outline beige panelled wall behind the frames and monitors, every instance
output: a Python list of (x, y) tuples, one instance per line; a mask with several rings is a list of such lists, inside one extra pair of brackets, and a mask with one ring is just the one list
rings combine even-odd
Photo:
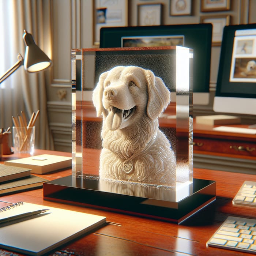
[[(170, 0), (128, 0), (128, 25), (137, 25), (138, 4), (161, 3), (163, 25), (199, 23), (201, 16), (230, 15), (231, 24), (256, 23), (255, 0), (230, 0), (230, 11), (200, 12), (200, 0), (192, 1), (190, 16), (170, 16)], [(93, 47), (93, 0), (53, 0), (53, 68), (48, 85), (47, 108), (55, 150), (71, 151), (71, 49)], [(214, 96), (220, 46), (212, 47), (211, 100)], [(195, 106), (194, 113), (212, 112), (208, 106)]]

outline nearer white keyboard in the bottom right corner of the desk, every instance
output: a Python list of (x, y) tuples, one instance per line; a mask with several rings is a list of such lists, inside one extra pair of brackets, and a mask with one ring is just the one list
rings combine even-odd
[(229, 216), (206, 244), (256, 254), (256, 219)]

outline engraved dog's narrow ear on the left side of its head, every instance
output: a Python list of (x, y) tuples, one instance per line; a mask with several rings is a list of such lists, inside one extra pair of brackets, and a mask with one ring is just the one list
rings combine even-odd
[(99, 76), (99, 82), (97, 83), (97, 86), (95, 87), (93, 91), (93, 105), (96, 108), (97, 116), (100, 116), (101, 114), (106, 114), (106, 110), (103, 107), (102, 98), (103, 98), (103, 91), (104, 91), (104, 81), (108, 75), (108, 71), (102, 73)]

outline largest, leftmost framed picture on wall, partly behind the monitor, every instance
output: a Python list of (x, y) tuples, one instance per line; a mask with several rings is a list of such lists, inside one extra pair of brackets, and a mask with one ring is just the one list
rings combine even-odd
[(98, 46), (102, 27), (128, 25), (128, 0), (95, 0), (93, 3), (93, 44)]

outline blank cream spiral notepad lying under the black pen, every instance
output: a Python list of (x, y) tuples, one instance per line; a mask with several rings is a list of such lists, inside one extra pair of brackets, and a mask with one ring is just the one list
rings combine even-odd
[(0, 226), (0, 248), (26, 255), (42, 255), (56, 250), (60, 245), (106, 223), (106, 217), (99, 215), (26, 202), (16, 204), (10, 210), (0, 212), (0, 220), (24, 212), (49, 209), (36, 217)]

